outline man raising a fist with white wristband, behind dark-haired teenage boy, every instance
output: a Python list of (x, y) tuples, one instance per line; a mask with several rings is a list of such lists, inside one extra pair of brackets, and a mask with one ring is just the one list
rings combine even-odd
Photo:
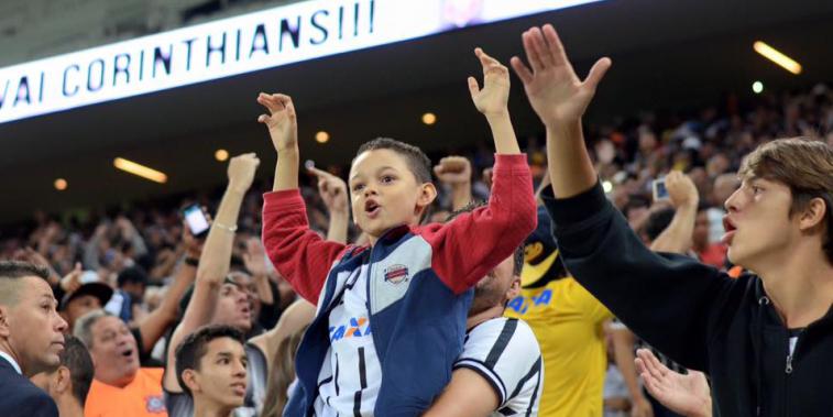
[[(229, 163), (229, 184), (220, 200), (217, 215), (197, 267), (194, 292), (186, 303), (183, 319), (171, 337), (163, 386), (165, 405), (172, 417), (195, 415), (194, 398), (187, 395), (178, 381), (176, 348), (179, 343), (206, 325), (231, 326), (242, 333), (252, 328), (253, 309), (248, 282), (230, 278), (231, 252), (234, 244), (238, 216), (260, 161), (253, 154), (235, 156)], [(263, 260), (265, 262), (265, 259)], [(241, 416), (257, 415), (265, 398), (268, 364), (281, 340), (306, 326), (311, 320), (314, 308), (307, 303), (296, 303), (282, 315), (272, 330), (249, 339), (244, 345), (248, 358), (246, 394), (243, 405), (234, 413)]]

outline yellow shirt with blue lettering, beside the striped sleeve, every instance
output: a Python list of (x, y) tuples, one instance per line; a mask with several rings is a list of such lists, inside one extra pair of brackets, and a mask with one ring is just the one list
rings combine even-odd
[(523, 288), (506, 317), (533, 328), (544, 356), (540, 417), (601, 417), (607, 367), (603, 325), (613, 316), (576, 279)]

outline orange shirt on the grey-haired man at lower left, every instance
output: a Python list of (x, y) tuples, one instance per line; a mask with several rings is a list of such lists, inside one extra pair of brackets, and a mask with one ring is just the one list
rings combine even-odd
[(163, 371), (162, 367), (140, 367), (123, 388), (92, 380), (84, 417), (167, 417), (162, 396)]

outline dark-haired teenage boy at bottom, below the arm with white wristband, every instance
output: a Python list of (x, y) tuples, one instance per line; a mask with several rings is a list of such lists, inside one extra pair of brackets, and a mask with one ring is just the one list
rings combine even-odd
[(248, 384), (243, 333), (206, 326), (176, 348), (176, 377), (194, 402), (195, 416), (229, 417), (243, 405)]

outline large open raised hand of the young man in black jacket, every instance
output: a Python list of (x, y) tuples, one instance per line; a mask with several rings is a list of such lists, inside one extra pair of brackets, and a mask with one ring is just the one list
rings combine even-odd
[(576, 76), (551, 24), (544, 25), (542, 30), (533, 28), (522, 37), (531, 69), (517, 56), (512, 57), (511, 64), (524, 83), (535, 112), (547, 127), (579, 120), (611, 67), (611, 59), (599, 59), (582, 81)]

